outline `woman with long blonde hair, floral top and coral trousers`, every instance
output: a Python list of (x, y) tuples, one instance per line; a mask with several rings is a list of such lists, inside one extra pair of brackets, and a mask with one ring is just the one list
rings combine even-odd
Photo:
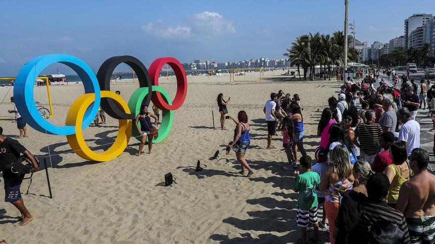
[(349, 161), (348, 149), (343, 145), (337, 145), (330, 152), (330, 164), (322, 174), (320, 191), (325, 190), (325, 210), (329, 224), (329, 238), (331, 244), (335, 244), (333, 237), (335, 219), (338, 215), (340, 200), (344, 192), (352, 190), (352, 168)]

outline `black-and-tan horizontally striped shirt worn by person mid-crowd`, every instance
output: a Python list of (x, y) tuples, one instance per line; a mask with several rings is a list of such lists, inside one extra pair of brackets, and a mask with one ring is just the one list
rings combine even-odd
[(367, 155), (375, 155), (379, 152), (378, 138), (381, 134), (382, 128), (377, 123), (360, 123), (355, 129), (361, 151)]

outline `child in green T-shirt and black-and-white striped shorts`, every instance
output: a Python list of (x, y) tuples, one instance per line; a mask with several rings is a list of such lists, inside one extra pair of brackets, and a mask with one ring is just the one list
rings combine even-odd
[(302, 156), (300, 160), (301, 172), (295, 171), (296, 179), (293, 183), (295, 192), (299, 192), (298, 214), (296, 221), (302, 231), (302, 243), (306, 244), (306, 227), (308, 222), (314, 226), (314, 242), (317, 242), (319, 224), (317, 222), (317, 193), (316, 188), (320, 183), (317, 173), (311, 172), (311, 157)]

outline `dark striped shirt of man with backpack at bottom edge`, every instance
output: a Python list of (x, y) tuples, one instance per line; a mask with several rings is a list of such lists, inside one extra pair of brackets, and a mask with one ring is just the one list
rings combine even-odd
[[(377, 221), (388, 221), (397, 225), (398, 229), (403, 232), (403, 243), (409, 244), (408, 225), (403, 214), (389, 207), (385, 202), (371, 203), (367, 201), (365, 196), (361, 195), (361, 193), (351, 192), (343, 198), (342, 206), (335, 222), (339, 233), (341, 231), (346, 232), (347, 243), (370, 243), (370, 236), (372, 235), (369, 232), (370, 227)], [(338, 238), (337, 243), (341, 243), (339, 240), (340, 238)]]

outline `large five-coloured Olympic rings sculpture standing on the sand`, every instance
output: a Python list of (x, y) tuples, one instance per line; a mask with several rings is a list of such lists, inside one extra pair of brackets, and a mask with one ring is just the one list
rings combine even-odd
[[(65, 126), (56, 126), (45, 120), (39, 113), (33, 98), (37, 76), (53, 63), (62, 63), (73, 69), (85, 87), (85, 94), (71, 105)], [(110, 91), (110, 78), (115, 68), (121, 63), (130, 66), (137, 74), (139, 81), (139, 88), (133, 92), (128, 103), (121, 96)], [(174, 70), (177, 81), (174, 101), (171, 101), (169, 94), (158, 86), (160, 70), (165, 64)], [(104, 61), (95, 75), (85, 62), (74, 56), (68, 54), (42, 55), (25, 64), (14, 83), (15, 105), (29, 126), (42, 133), (66, 136), (77, 155), (99, 162), (121, 155), (129, 143), (131, 134), (136, 139), (140, 137), (139, 131), (132, 126), (132, 123), (143, 104), (149, 105), (152, 102), (162, 110), (163, 118), (159, 136), (153, 140), (153, 143), (166, 139), (172, 128), (174, 110), (184, 103), (186, 94), (186, 72), (180, 62), (171, 57), (154, 60), (147, 70), (138, 59), (132, 56), (115, 56)], [(106, 151), (96, 153), (86, 145), (83, 130), (92, 123), (100, 106), (109, 116), (119, 120), (119, 130), (115, 142)]]

